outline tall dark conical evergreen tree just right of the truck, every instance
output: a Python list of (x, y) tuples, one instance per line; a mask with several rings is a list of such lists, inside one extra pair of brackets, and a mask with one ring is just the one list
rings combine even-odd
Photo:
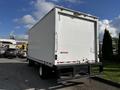
[(112, 47), (112, 38), (107, 29), (105, 29), (103, 44), (102, 44), (102, 59), (104, 61), (112, 60), (113, 56), (113, 47)]

